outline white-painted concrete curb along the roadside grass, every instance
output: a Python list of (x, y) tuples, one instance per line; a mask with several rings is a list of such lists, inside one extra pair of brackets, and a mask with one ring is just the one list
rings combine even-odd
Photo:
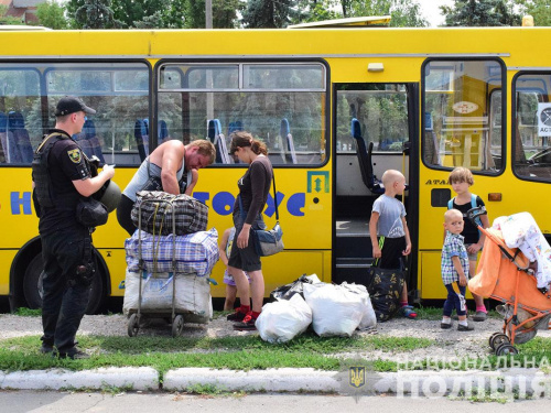
[(182, 368), (170, 370), (160, 381), (150, 367), (100, 368), (68, 371), (63, 369), (0, 372), (0, 389), (17, 390), (121, 390), (194, 391), (207, 387), (222, 392), (328, 392), (341, 394), (395, 393), (411, 396), (464, 395), (480, 390), (512, 396), (533, 394), (551, 398), (551, 374), (532, 369), (496, 371), (399, 371), (367, 372), (364, 382), (349, 378), (348, 371), (321, 371), (311, 368), (251, 371)]

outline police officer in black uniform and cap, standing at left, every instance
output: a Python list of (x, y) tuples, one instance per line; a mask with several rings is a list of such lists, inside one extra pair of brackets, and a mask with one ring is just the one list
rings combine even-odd
[(86, 115), (96, 111), (79, 98), (62, 98), (55, 128), (44, 137), (33, 161), (35, 207), (44, 260), (41, 352), (60, 358), (87, 358), (75, 336), (88, 305), (95, 263), (91, 230), (79, 224), (77, 204), (110, 180), (114, 166), (91, 176), (90, 165), (72, 135), (83, 130)]

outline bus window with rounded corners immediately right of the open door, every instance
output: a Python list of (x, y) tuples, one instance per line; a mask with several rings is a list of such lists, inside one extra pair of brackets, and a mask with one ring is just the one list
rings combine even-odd
[(423, 161), (497, 173), (505, 131), (497, 61), (429, 61), (423, 77)]

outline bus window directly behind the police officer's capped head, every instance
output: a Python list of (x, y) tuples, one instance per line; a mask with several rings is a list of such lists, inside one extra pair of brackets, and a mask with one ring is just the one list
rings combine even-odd
[[(149, 146), (150, 74), (145, 64), (56, 64), (44, 72), (51, 116), (66, 95), (79, 96), (97, 110), (74, 137), (88, 156), (117, 165), (141, 162), (141, 151), (148, 152)], [(138, 130), (137, 122), (143, 129)]]

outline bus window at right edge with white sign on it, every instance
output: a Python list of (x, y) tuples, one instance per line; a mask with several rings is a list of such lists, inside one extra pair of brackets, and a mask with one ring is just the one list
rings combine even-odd
[(551, 181), (551, 75), (515, 80), (514, 171), (528, 180)]

